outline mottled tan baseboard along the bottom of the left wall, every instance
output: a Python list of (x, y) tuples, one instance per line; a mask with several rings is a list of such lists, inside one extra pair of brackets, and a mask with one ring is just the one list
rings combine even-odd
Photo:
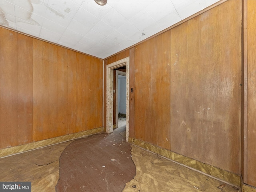
[(11, 155), (22, 153), (22, 152), (26, 152), (26, 151), (30, 151), (30, 150), (34, 150), (34, 149), (38, 149), (38, 148), (42, 148), (42, 147), (49, 146), (49, 145), (54, 145), (57, 143), (70, 141), (70, 140), (73, 140), (76, 138), (81, 138), (84, 136), (88, 136), (88, 135), (96, 134), (96, 133), (100, 133), (100, 132), (103, 132), (103, 127), (86, 130), (86, 131), (82, 131), (82, 132), (78, 132), (78, 133), (68, 134), (68, 135), (64, 135), (64, 136), (59, 136), (59, 137), (55, 137), (55, 138), (50, 138), (50, 139), (46, 139), (46, 140), (42, 140), (42, 141), (36, 141), (36, 142), (23, 144), (23, 145), (19, 145), (19, 146), (3, 148), (3, 149), (0, 149), (0, 158), (6, 157), (6, 156), (11, 156)]

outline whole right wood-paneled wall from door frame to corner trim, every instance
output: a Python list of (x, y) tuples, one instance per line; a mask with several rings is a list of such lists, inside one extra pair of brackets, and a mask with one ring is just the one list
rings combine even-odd
[(130, 136), (241, 174), (241, 23), (230, 0), (130, 49)]

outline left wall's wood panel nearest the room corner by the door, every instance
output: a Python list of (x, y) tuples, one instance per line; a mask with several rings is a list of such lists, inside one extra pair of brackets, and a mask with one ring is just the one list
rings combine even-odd
[(103, 62), (77, 53), (76, 129), (102, 127)]

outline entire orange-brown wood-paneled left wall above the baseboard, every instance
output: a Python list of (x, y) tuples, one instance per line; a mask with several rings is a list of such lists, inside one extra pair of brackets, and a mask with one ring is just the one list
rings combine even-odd
[(102, 60), (0, 28), (0, 148), (102, 127)]

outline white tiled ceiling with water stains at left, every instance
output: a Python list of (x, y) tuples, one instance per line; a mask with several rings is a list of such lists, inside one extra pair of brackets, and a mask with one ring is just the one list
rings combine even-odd
[(217, 1), (0, 0), (0, 25), (104, 59)]

